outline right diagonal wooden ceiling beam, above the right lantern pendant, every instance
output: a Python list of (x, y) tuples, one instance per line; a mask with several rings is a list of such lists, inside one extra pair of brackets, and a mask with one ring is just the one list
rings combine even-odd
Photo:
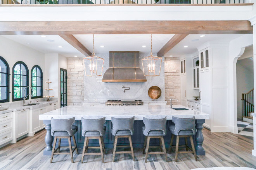
[(172, 49), (174, 46), (176, 46), (180, 41), (182, 41), (185, 37), (187, 37), (189, 34), (175, 34), (171, 39), (161, 48), (157, 56), (162, 57), (164, 54), (166, 54), (170, 49)]

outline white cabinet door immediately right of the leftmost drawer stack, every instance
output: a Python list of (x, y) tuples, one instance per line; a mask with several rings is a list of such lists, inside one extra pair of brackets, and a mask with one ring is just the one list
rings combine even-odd
[(16, 114), (16, 138), (29, 133), (29, 109), (19, 110)]

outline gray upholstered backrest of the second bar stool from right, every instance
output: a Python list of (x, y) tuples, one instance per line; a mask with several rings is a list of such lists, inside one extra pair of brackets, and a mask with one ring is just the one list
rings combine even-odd
[(145, 124), (144, 134), (148, 136), (150, 131), (163, 131), (166, 135), (166, 117), (163, 119), (148, 119), (143, 117), (143, 123)]

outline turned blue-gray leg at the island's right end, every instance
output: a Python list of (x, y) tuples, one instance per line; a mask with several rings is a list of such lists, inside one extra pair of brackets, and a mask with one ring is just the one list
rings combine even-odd
[(204, 136), (202, 134), (202, 129), (204, 128), (202, 125), (204, 124), (205, 120), (195, 120), (195, 128), (196, 128), (196, 134), (195, 134), (195, 152), (196, 155), (205, 155), (205, 150), (202, 147), (202, 143), (204, 141)]

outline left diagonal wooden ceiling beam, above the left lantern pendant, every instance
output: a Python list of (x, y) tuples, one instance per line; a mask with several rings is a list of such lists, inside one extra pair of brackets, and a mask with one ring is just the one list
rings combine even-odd
[(72, 34), (59, 34), (60, 37), (62, 37), (65, 41), (67, 41), (71, 46), (76, 48), (78, 51), (83, 53), (85, 56), (91, 56), (92, 53), (85, 47), (83, 44), (81, 44), (80, 41), (76, 39)]

